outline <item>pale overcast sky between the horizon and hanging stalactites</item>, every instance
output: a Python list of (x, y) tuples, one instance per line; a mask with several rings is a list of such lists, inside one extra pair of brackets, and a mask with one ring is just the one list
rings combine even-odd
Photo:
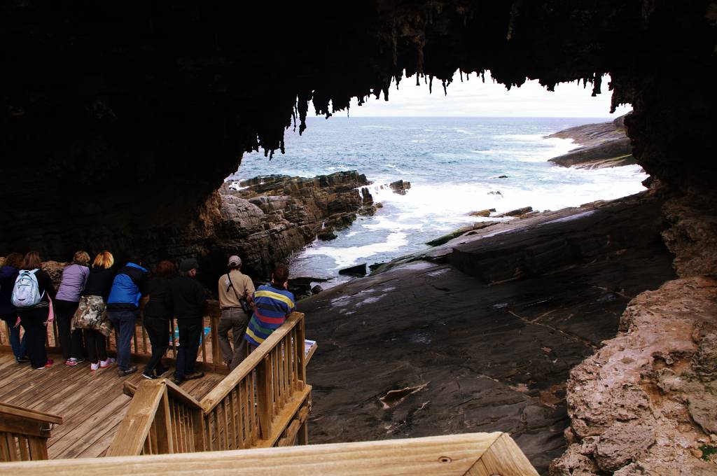
[[(389, 102), (371, 97), (359, 107), (354, 99), (350, 115), (359, 116), (510, 116), (510, 117), (559, 117), (559, 118), (617, 118), (632, 110), (622, 106), (610, 114), (610, 97), (607, 90), (609, 76), (602, 82), (602, 94), (592, 97), (592, 85), (583, 88), (582, 83), (562, 83), (549, 92), (538, 81), (526, 82), (510, 91), (493, 82), (486, 75), (485, 83), (471, 75), (470, 80), (460, 82), (456, 74), (443, 94), (440, 81), (433, 82), (433, 92), (428, 85), (416, 86), (416, 77), (404, 78), (396, 90), (391, 85)], [(339, 113), (341, 114), (341, 113)]]

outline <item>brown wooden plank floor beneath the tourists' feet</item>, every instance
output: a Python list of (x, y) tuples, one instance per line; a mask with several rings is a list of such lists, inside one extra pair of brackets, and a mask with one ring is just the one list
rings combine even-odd
[[(138, 384), (143, 380), (140, 372), (120, 378), (116, 366), (90, 372), (87, 362), (70, 367), (61, 357), (52, 358), (52, 367), (34, 370), (27, 363), (15, 363), (11, 353), (0, 353), (0, 401), (65, 419), (52, 429), (47, 442), (51, 459), (103, 455), (130, 403), (122, 393), (123, 384)], [(206, 373), (181, 387), (199, 400), (222, 379), (223, 375)]]

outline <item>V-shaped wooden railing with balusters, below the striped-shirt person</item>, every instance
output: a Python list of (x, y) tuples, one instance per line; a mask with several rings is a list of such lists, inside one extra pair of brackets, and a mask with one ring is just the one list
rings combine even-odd
[(304, 315), (286, 322), (196, 401), (170, 381), (143, 381), (108, 456), (307, 444)]

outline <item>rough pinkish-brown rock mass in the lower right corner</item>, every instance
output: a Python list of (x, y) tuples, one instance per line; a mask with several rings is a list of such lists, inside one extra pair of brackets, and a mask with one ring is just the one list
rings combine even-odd
[(717, 474), (717, 281), (642, 292), (620, 330), (570, 372), (571, 444), (551, 475)]

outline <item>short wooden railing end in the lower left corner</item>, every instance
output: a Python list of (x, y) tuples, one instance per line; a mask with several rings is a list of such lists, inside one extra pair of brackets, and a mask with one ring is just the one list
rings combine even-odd
[(0, 461), (47, 460), (50, 427), (61, 423), (57, 415), (0, 404)]

